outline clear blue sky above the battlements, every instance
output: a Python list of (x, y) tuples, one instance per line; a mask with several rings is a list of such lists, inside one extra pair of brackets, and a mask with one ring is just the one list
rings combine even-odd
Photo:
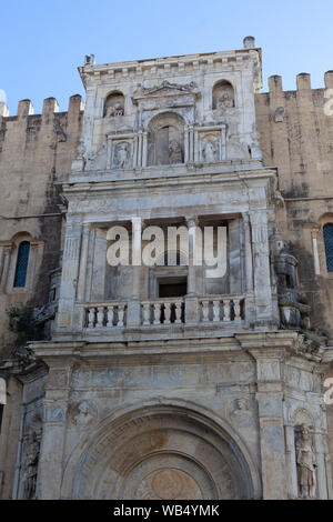
[(333, 69), (332, 0), (0, 0), (0, 89), (10, 114), (32, 100), (40, 112), (53, 96), (60, 110), (83, 94), (77, 67), (242, 48), (252, 34), (263, 49), (263, 79), (310, 72), (324, 86)]

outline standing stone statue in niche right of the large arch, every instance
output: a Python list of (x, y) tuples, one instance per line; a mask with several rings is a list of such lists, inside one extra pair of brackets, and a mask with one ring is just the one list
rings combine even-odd
[(301, 426), (300, 439), (296, 442), (296, 463), (300, 496), (302, 499), (315, 499), (316, 461), (311, 443), (310, 430), (305, 424)]

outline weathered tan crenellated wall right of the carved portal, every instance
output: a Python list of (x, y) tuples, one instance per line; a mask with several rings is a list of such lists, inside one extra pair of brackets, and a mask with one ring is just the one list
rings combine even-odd
[[(333, 273), (327, 273), (322, 227), (333, 222), (333, 117), (325, 114), (325, 89), (311, 89), (310, 74), (297, 76), (297, 90), (283, 91), (281, 77), (270, 92), (256, 94), (256, 118), (264, 164), (279, 169), (285, 207), (278, 212), (280, 232), (299, 259), (300, 294), (312, 308), (311, 325), (333, 339)], [(333, 87), (333, 71), (325, 88)], [(320, 274), (315, 273), (317, 240)]]

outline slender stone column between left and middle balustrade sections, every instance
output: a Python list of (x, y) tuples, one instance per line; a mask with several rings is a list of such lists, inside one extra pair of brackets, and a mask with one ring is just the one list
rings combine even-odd
[(128, 327), (140, 324), (140, 283), (142, 271), (142, 220), (132, 218), (133, 294), (128, 303)]

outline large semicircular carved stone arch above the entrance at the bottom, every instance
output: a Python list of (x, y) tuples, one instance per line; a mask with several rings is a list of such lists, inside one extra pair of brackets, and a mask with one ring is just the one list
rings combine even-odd
[(255, 495), (253, 470), (235, 441), (209, 419), (174, 406), (138, 411), (103, 426), (85, 444), (74, 468), (65, 472), (72, 476), (64, 479), (69, 490), (62, 491), (62, 498), (215, 500)]

